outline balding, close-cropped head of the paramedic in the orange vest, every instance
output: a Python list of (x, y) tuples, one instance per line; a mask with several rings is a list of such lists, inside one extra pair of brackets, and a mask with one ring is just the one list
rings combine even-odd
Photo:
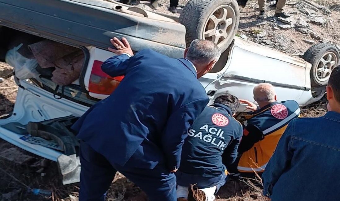
[(275, 90), (269, 83), (260, 83), (254, 87), (254, 99), (256, 102), (275, 101)]

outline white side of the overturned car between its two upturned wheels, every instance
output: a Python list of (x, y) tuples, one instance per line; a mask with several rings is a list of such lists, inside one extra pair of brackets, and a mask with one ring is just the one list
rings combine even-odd
[[(238, 38), (221, 72), (207, 74), (207, 77), (217, 77), (206, 86), (211, 100), (228, 92), (239, 99), (254, 101), (254, 86), (266, 82), (273, 84), (278, 101), (292, 99), (303, 105), (300, 97), (309, 90), (305, 87), (308, 75), (305, 61)], [(240, 111), (243, 109), (245, 105)]]

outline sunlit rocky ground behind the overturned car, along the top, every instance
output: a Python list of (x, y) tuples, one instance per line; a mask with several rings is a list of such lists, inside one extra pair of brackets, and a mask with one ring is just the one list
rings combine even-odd
[[(180, 15), (187, 0), (180, 0)], [(269, 2), (267, 5), (274, 2)], [(158, 0), (158, 12), (171, 14), (168, 0)], [(152, 10), (150, 3), (138, 5)], [(314, 43), (329, 42), (340, 45), (340, 0), (287, 0), (284, 12), (288, 19), (275, 18), (275, 8), (268, 6), (266, 15), (259, 17), (256, 0), (249, 0), (240, 9), (237, 36), (292, 55), (303, 55)], [(340, 48), (340, 46), (338, 46)]]

